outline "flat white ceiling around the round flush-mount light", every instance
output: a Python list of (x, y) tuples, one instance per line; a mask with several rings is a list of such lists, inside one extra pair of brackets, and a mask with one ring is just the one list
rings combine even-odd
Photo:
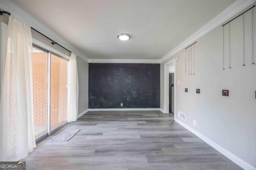
[[(89, 59), (161, 59), (235, 0), (12, 2)], [(119, 33), (131, 39), (120, 41)]]

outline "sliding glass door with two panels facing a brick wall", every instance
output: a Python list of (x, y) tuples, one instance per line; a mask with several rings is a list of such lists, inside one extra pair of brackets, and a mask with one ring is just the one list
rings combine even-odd
[(36, 142), (67, 123), (68, 60), (33, 47), (33, 107)]

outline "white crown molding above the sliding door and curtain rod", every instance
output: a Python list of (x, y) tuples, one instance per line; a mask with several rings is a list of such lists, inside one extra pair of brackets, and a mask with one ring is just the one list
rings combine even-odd
[(13, 16), (19, 18), (27, 25), (30, 25), (30, 27), (33, 27), (34, 29), (38, 30), (42, 34), (46, 35), (47, 37), (50, 37), (60, 45), (66, 47), (68, 50), (75, 53), (78, 57), (89, 61), (89, 59), (78, 49), (73, 47), (70, 43), (62, 39), (60, 36), (58, 36), (56, 33), (54, 33), (52, 30), (50, 30), (48, 27), (43, 25), (40, 21), (36, 20), (34, 17), (32, 17), (30, 14), (22, 10), (19, 6), (11, 2), (10, 0), (1, 0), (0, 1), (0, 8), (3, 10), (10, 12)]

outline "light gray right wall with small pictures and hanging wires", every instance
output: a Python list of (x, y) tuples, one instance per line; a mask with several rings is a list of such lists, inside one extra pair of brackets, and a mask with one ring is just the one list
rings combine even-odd
[[(197, 40), (195, 75), (185, 75), (184, 49), (161, 63), (160, 107), (164, 110), (164, 64), (179, 56), (175, 82), (177, 119), (256, 168), (256, 65), (251, 64), (251, 14), (250, 11), (245, 14), (246, 66), (242, 66), (243, 21), (240, 16), (231, 22), (232, 69), (228, 69), (227, 25), (225, 70), (222, 70), (223, 39), (220, 25)], [(180, 85), (177, 84), (178, 80)], [(184, 92), (185, 88), (188, 88), (188, 93)], [(200, 94), (196, 94), (196, 88), (200, 88)], [(222, 96), (222, 90), (229, 90), (230, 96)], [(186, 121), (178, 118), (178, 111), (186, 114)], [(196, 126), (193, 120), (196, 120)]]

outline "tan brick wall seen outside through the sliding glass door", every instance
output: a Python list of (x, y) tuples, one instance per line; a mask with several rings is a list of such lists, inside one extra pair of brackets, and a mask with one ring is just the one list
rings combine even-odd
[[(46, 126), (47, 121), (47, 53), (36, 52), (33, 64), (34, 126)], [(67, 120), (68, 61), (51, 56), (51, 125)]]

